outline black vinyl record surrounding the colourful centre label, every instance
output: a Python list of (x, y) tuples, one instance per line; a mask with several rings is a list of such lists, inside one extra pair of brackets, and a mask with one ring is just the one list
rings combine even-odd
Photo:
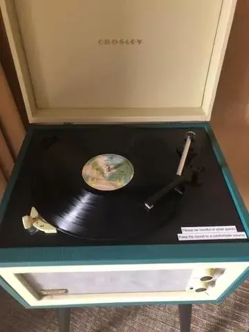
[[(157, 229), (169, 221), (181, 200), (173, 191), (151, 210), (145, 200), (171, 182), (179, 156), (143, 131), (46, 138), (44, 153), (33, 169), (33, 198), (39, 214), (58, 230), (97, 241), (122, 241)], [(133, 166), (131, 181), (118, 190), (96, 190), (82, 169), (95, 156), (118, 154)]]

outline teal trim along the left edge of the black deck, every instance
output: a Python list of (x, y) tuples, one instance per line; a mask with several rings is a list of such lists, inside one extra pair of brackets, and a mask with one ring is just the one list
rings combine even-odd
[[(24, 156), (26, 154), (26, 151), (28, 149), (28, 145), (30, 144), (30, 140), (31, 140), (32, 136), (33, 136), (33, 128), (30, 127), (28, 129), (28, 132), (26, 133), (26, 137), (24, 138), (24, 142), (21, 145), (21, 149), (19, 151), (19, 155), (18, 155), (18, 158), (17, 158), (17, 163), (15, 163), (15, 167), (12, 171), (11, 176), (10, 176), (10, 181), (8, 183), (6, 191), (3, 194), (3, 199), (1, 200), (1, 204), (0, 204), (0, 223), (1, 223), (1, 220), (3, 218), (4, 212), (6, 211), (8, 201), (9, 201), (10, 195), (12, 193), (12, 189), (15, 186), (15, 183), (17, 181), (18, 174), (19, 174), (19, 171), (21, 169), (21, 165), (23, 163)], [(0, 249), (0, 251), (1, 251), (1, 249)]]

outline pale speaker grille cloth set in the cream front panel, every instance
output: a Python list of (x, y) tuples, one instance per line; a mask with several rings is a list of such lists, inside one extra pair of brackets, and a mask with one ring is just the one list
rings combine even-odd
[(68, 294), (185, 291), (192, 270), (27, 273), (35, 291), (66, 289)]

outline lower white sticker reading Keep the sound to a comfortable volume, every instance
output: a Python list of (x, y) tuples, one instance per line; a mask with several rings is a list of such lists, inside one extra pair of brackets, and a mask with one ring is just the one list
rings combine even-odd
[(246, 232), (237, 233), (185, 233), (177, 234), (179, 241), (247, 239)]

